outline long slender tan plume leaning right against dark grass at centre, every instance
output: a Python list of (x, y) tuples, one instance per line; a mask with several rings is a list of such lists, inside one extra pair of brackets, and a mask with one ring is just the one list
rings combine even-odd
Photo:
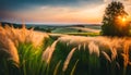
[(68, 65), (69, 65), (69, 63), (70, 63), (70, 60), (71, 60), (71, 58), (72, 58), (72, 55), (73, 55), (73, 53), (74, 53), (75, 50), (76, 50), (76, 48), (73, 48), (73, 49), (70, 51), (70, 53), (68, 54), (68, 57), (67, 57), (67, 59), (66, 59), (66, 61), (64, 61), (64, 63), (63, 63), (63, 68), (62, 68), (63, 72), (66, 72), (66, 70), (68, 68)]

